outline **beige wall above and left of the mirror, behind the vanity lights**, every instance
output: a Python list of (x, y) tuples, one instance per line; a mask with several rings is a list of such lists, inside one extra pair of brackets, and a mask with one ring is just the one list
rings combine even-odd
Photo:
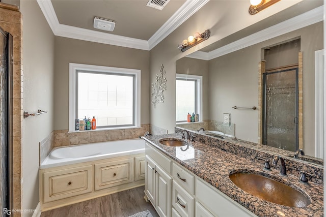
[[(302, 1), (281, 1), (273, 5), (273, 7), (264, 10), (264, 13), (258, 13), (255, 16), (251, 16), (248, 10), (243, 10), (243, 8), (249, 7), (247, 1), (209, 1), (206, 3), (204, 7), (150, 50), (150, 82), (155, 81), (155, 75), (159, 73), (161, 64), (164, 65), (167, 71), (167, 90), (164, 91), (165, 101), (164, 103), (157, 104), (156, 108), (151, 105), (151, 124), (165, 128), (169, 133), (174, 132), (176, 60), (259, 22), (261, 19), (293, 6), (298, 2)], [(305, 6), (303, 5), (303, 7)], [(223, 8), (222, 13), (218, 13), (221, 8)], [(211, 36), (207, 41), (183, 53), (177, 48), (177, 45), (189, 35), (198, 31), (204, 32), (208, 28), (211, 30)]]

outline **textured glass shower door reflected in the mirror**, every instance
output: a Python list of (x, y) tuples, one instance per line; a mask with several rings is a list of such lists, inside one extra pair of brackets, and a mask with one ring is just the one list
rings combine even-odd
[(263, 75), (263, 144), (298, 148), (298, 69)]

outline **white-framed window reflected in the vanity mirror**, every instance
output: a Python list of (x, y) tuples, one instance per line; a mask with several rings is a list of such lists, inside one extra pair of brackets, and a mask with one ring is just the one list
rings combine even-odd
[(176, 122), (186, 122), (187, 114), (193, 112), (202, 115), (202, 76), (176, 75)]

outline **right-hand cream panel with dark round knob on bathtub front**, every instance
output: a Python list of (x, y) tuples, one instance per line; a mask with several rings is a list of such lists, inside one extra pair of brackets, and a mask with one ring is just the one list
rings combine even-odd
[(133, 181), (134, 159), (95, 164), (95, 191)]

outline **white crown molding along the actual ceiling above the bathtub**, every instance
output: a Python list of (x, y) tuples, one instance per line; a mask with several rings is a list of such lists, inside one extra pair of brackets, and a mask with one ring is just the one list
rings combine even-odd
[(150, 50), (163, 39), (165, 39), (168, 35), (170, 35), (173, 30), (175, 30), (196, 11), (203, 7), (208, 1), (209, 0), (187, 0), (180, 7), (180, 9), (166, 23), (164, 23), (148, 41), (60, 24), (55, 9), (53, 8), (50, 0), (37, 0), (37, 3), (39, 4), (45, 19), (55, 36), (141, 50)]

